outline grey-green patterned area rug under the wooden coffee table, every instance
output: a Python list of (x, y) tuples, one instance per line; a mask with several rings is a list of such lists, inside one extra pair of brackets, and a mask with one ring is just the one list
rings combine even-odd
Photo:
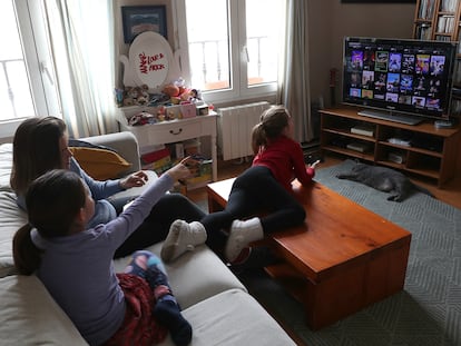
[(301, 305), (264, 273), (242, 275), (242, 280), (308, 346), (460, 346), (461, 210), (423, 194), (389, 201), (388, 194), (336, 178), (352, 165), (345, 160), (317, 169), (315, 180), (412, 233), (404, 289), (313, 332)]

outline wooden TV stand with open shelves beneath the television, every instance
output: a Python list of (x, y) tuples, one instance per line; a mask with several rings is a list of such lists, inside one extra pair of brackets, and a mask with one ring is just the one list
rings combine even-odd
[[(346, 106), (320, 110), (322, 154), (341, 154), (415, 174), (435, 180), (439, 187), (454, 177), (461, 157), (459, 125), (453, 129), (435, 129), (433, 121), (403, 125), (359, 116), (360, 110)], [(411, 139), (411, 146), (390, 142), (391, 138)]]

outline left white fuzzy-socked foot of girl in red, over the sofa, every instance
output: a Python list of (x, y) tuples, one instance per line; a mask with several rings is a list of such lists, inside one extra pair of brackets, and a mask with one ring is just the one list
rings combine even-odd
[(187, 224), (184, 220), (176, 220), (171, 224), (161, 247), (161, 259), (168, 263), (186, 251), (193, 251), (197, 245), (205, 244), (206, 238), (205, 227), (200, 223)]

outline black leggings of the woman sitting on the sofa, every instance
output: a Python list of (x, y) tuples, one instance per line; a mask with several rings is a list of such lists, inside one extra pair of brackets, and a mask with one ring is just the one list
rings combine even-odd
[(166, 194), (150, 210), (144, 223), (117, 249), (114, 258), (131, 255), (150, 245), (165, 240), (169, 226), (176, 219), (199, 221), (206, 214), (180, 194)]

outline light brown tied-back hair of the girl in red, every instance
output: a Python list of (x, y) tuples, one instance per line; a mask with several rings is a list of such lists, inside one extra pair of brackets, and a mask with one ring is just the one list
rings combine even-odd
[(252, 148), (256, 155), (261, 147), (282, 135), (288, 126), (290, 112), (283, 106), (274, 106), (266, 109), (259, 118), (259, 122), (252, 130)]

